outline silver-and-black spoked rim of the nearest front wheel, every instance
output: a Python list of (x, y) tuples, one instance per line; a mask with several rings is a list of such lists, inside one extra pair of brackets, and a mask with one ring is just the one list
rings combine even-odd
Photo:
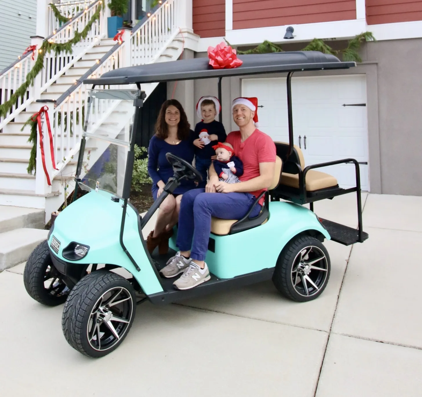
[(126, 288), (114, 287), (104, 292), (89, 315), (89, 345), (97, 351), (112, 348), (126, 333), (132, 313), (132, 295)]

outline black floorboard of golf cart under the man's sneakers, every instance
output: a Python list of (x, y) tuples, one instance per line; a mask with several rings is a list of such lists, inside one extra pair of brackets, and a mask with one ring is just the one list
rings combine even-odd
[[(157, 250), (155, 250), (154, 253), (152, 253), (151, 258), (154, 261), (157, 270), (160, 271), (160, 269), (166, 265), (168, 259), (174, 255), (176, 255), (176, 251), (172, 249), (170, 249), (166, 255), (158, 255)], [(173, 286), (173, 283), (181, 275), (172, 278), (165, 278), (160, 276), (160, 282), (164, 291), (158, 294), (149, 295), (148, 298), (155, 305), (166, 305), (168, 303), (179, 302), (181, 300), (195, 298), (197, 296), (227, 291), (230, 288), (242, 287), (259, 283), (261, 281), (271, 280), (273, 273), (273, 267), (227, 279), (218, 278), (210, 273), (211, 280), (200, 284), (197, 287), (183, 291), (180, 291)]]

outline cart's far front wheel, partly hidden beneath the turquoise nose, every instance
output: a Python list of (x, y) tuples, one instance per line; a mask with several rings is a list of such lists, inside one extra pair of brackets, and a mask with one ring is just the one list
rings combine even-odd
[(47, 240), (29, 256), (24, 269), (24, 286), (27, 293), (43, 305), (57, 306), (66, 302), (69, 289), (51, 261)]

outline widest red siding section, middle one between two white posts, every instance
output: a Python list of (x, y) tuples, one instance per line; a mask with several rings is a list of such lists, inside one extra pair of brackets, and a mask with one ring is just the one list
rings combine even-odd
[(356, 19), (356, 0), (233, 0), (233, 29)]

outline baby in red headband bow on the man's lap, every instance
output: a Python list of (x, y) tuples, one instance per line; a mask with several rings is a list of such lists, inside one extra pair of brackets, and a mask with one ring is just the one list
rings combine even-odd
[(243, 163), (234, 155), (233, 146), (230, 143), (221, 143), (213, 146), (217, 159), (213, 161), (214, 169), (221, 182), (237, 183), (243, 174)]

